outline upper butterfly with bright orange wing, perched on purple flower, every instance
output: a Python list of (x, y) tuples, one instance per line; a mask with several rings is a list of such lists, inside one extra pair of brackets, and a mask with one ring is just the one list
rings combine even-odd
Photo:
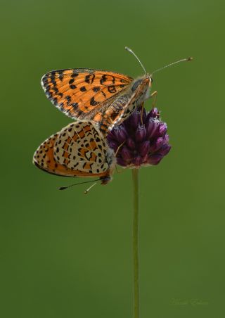
[(74, 120), (91, 120), (105, 135), (150, 97), (152, 81), (146, 70), (145, 75), (133, 79), (116, 72), (72, 68), (46, 73), (41, 86), (65, 115)]

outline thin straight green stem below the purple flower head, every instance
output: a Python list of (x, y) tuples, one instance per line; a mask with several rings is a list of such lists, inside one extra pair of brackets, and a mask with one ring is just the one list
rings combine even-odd
[(134, 318), (139, 318), (139, 169), (132, 169), (132, 179), (134, 184)]

